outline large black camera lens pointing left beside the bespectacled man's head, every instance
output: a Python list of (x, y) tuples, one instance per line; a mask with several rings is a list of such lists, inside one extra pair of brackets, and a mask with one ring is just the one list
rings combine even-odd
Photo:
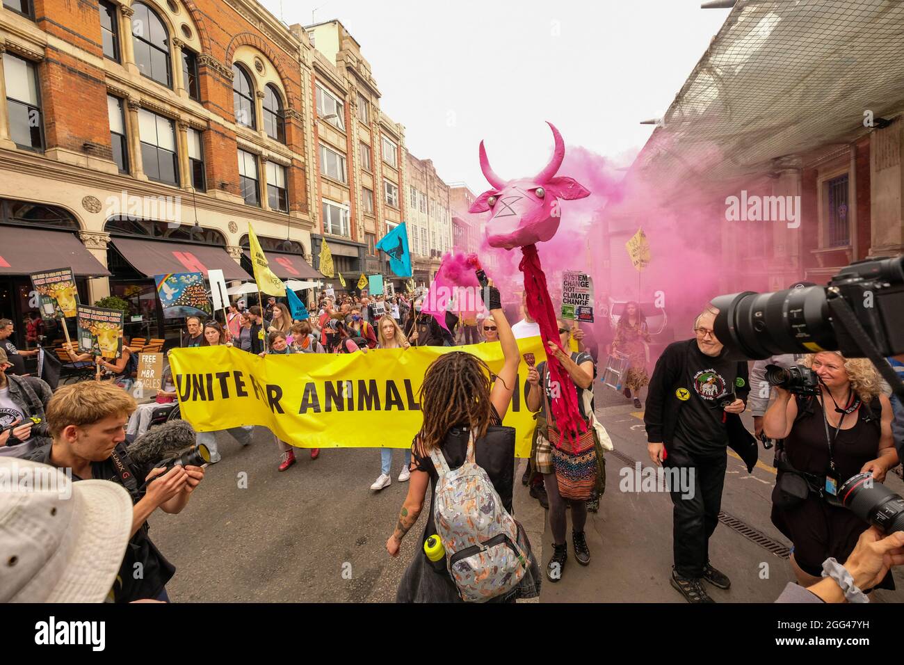
[(747, 358), (837, 348), (823, 287), (772, 293), (744, 291), (712, 300), (716, 337)]

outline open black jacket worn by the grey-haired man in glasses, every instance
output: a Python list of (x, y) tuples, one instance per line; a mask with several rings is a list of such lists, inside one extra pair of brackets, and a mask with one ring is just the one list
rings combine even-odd
[[(684, 404), (678, 398), (677, 392), (684, 389), (693, 394), (693, 386), (688, 378), (687, 355), (691, 346), (696, 343), (696, 339), (686, 339), (681, 342), (673, 342), (665, 347), (663, 355), (656, 361), (653, 376), (650, 379), (644, 412), (646, 440), (651, 443), (664, 443), (666, 451), (672, 444), (675, 426), (678, 423), (678, 413), (681, 412)], [(736, 385), (734, 392), (739, 399), (747, 402), (750, 385), (746, 360), (738, 363), (738, 378), (743, 379), (744, 385)], [(728, 430), (729, 448), (737, 452), (747, 464), (748, 472), (752, 471), (758, 460), (757, 440), (741, 422), (739, 414), (728, 413), (725, 423)]]

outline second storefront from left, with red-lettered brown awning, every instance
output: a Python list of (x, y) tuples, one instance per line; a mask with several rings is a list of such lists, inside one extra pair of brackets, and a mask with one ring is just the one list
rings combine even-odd
[(201, 226), (116, 217), (108, 220), (107, 265), (110, 294), (127, 301), (126, 337), (175, 340), (184, 318), (164, 318), (155, 275), (170, 272), (223, 271), (226, 281), (250, 280), (247, 271), (226, 252), (221, 233)]

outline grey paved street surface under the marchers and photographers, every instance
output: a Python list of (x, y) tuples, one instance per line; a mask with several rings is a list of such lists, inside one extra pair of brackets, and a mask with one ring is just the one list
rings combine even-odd
[[(617, 451), (648, 464), (640, 414), (601, 385), (597, 394), (598, 417)], [(407, 490), (396, 480), (401, 451), (393, 453), (391, 486), (374, 493), (369, 488), (380, 472), (375, 449), (325, 449), (315, 461), (299, 451), (297, 464), (280, 473), (277, 447), (265, 430), (259, 428), (245, 449), (229, 436), (219, 442), (222, 461), (208, 470), (183, 513), (158, 511), (150, 520), (155, 544), (178, 569), (167, 587), (174, 601), (394, 601), (424, 524), (421, 518), (398, 558), (386, 554)], [(729, 460), (722, 508), (787, 545), (769, 522), (771, 454), (761, 451), (760, 459), (753, 474)], [(607, 492), (587, 529), (591, 565), (570, 558), (558, 584), (544, 582), (541, 602), (683, 602), (668, 581), (671, 500), (665, 493), (620, 491), (619, 472), (626, 466), (607, 456)], [(891, 474), (889, 484), (904, 493), (904, 483)], [(514, 507), (545, 561), (551, 550), (545, 515), (520, 483)], [(724, 525), (711, 539), (711, 559), (733, 583), (728, 592), (711, 591), (719, 602), (770, 602), (791, 579), (786, 560)], [(904, 575), (896, 579), (904, 588)], [(901, 592), (877, 595), (886, 602), (904, 599)]]

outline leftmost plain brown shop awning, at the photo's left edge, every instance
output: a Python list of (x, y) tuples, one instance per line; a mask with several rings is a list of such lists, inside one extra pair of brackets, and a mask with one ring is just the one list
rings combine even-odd
[(110, 274), (69, 231), (0, 226), (0, 275), (26, 275), (54, 268), (71, 268), (78, 277)]

